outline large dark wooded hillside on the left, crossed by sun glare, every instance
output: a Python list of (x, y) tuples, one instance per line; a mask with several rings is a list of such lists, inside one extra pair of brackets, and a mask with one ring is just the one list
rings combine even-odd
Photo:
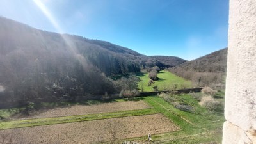
[(168, 67), (166, 61), (109, 42), (42, 31), (0, 17), (1, 102), (115, 93), (107, 76), (155, 65)]

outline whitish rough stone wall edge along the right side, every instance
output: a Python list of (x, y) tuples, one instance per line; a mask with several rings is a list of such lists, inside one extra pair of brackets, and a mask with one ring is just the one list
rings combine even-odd
[(230, 0), (223, 143), (256, 143), (256, 0)]

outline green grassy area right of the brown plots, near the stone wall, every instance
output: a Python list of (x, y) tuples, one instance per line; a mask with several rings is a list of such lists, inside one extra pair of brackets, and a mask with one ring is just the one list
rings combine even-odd
[[(196, 102), (189, 95), (180, 95), (179, 97), (184, 101), (188, 100), (189, 105), (194, 106), (195, 113), (180, 111), (160, 97), (145, 97), (144, 100), (152, 108), (163, 113), (180, 127), (180, 131), (154, 135), (154, 140), (161, 141), (161, 143), (205, 143), (212, 141), (221, 143), (222, 125), (225, 120), (223, 113), (217, 114), (207, 111), (195, 104)], [(183, 118), (189, 120), (193, 125)]]

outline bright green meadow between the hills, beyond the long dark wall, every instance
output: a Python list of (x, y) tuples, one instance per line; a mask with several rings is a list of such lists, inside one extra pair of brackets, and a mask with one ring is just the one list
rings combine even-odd
[(150, 79), (148, 74), (142, 74), (140, 77), (140, 82), (138, 83), (138, 88), (143, 92), (153, 92), (153, 86), (157, 86), (158, 90), (174, 90), (175, 85), (176, 89), (191, 88), (191, 81), (188, 81), (182, 77), (178, 77), (175, 74), (170, 73), (167, 70), (162, 70), (157, 74), (159, 78), (157, 81), (154, 81), (154, 84), (148, 86)]

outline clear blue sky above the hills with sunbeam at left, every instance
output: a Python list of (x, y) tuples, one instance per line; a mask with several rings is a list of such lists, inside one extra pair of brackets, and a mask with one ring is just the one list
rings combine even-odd
[(105, 40), (148, 56), (193, 60), (227, 47), (228, 0), (1, 0), (0, 15)]

